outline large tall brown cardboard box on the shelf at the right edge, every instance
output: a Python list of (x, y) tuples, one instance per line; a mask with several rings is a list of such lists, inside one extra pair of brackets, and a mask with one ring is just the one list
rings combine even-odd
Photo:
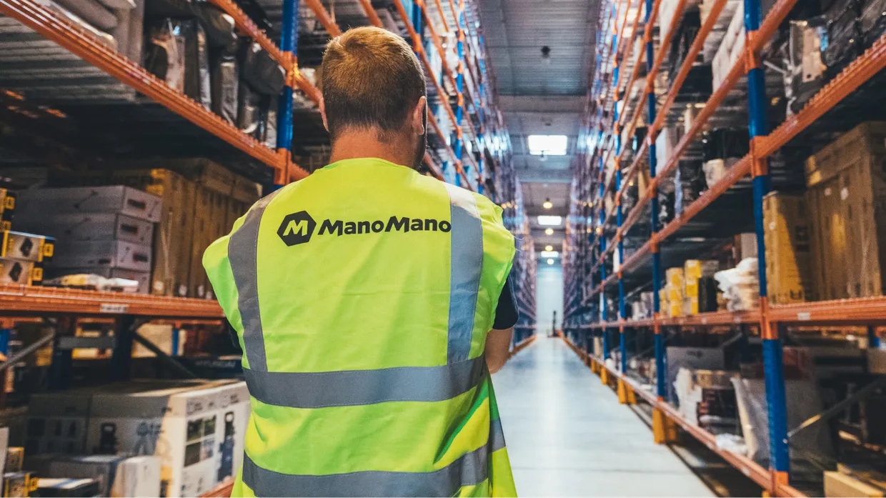
[(880, 296), (886, 278), (886, 122), (867, 122), (806, 161), (813, 289)]

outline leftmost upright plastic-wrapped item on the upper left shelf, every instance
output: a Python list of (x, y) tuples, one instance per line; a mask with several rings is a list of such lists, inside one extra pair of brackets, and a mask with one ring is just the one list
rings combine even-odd
[(184, 35), (178, 21), (163, 19), (151, 27), (144, 68), (169, 87), (184, 92)]

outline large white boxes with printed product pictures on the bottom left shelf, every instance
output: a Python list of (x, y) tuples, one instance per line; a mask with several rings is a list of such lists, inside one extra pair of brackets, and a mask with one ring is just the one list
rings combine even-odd
[[(249, 413), (245, 383), (231, 380), (37, 394), (28, 407), (26, 455), (157, 455), (159, 495), (197, 496), (237, 471)], [(77, 462), (108, 465), (96, 457)]]

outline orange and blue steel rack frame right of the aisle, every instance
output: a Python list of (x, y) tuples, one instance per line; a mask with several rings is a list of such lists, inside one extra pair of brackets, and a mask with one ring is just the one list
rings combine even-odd
[[(669, 89), (657, 89), (656, 77), (664, 61), (666, 49), (676, 35), (688, 0), (678, 0), (668, 29), (656, 33), (654, 27), (659, 17), (662, 0), (610, 0), (602, 5), (600, 27), (597, 34), (597, 64), (593, 82), (588, 89), (586, 118), (579, 136), (579, 160), (577, 177), (573, 183), (570, 240), (566, 245), (568, 254), (565, 262), (566, 313), (563, 329), (567, 341), (582, 355), (593, 370), (602, 374), (605, 380), (614, 378), (618, 384), (621, 401), (630, 401), (634, 393), (654, 408), (653, 419), (656, 438), (667, 440), (667, 424), (679, 424), (687, 432), (707, 444), (722, 455), (727, 462), (744, 471), (770, 494), (798, 495), (797, 489), (789, 485), (789, 436), (787, 409), (785, 403), (785, 383), (782, 368), (781, 331), (790, 325), (867, 325), (873, 331), (874, 325), (886, 323), (886, 298), (864, 298), (852, 300), (805, 302), (791, 305), (770, 305), (766, 296), (766, 251), (763, 227), (763, 197), (771, 190), (772, 179), (768, 167), (769, 158), (782, 147), (791, 143), (797, 136), (826, 113), (840, 105), (852, 92), (874, 78), (886, 68), (886, 35), (845, 67), (828, 84), (812, 97), (804, 108), (783, 121), (773, 130), (767, 130), (766, 76), (761, 51), (773, 37), (781, 23), (788, 18), (797, 0), (778, 0), (766, 17), (761, 15), (758, 0), (743, 0), (744, 28), (746, 40), (742, 56), (731, 67), (724, 81), (713, 89), (711, 96), (703, 103), (685, 136), (673, 148), (672, 154), (663, 167), (657, 165), (656, 138), (664, 128), (669, 111), (674, 105), (680, 89), (686, 82), (696, 57), (703, 50), (703, 44), (711, 34), (715, 23), (723, 12), (727, 0), (711, 2), (710, 11), (703, 21), (694, 43), (688, 49), (682, 65), (673, 75)], [(633, 12), (633, 19), (630, 15)], [(642, 19), (642, 21), (641, 21)], [(632, 22), (633, 20), (633, 22)], [(666, 19), (665, 19), (666, 20)], [(642, 26), (642, 29), (641, 29)], [(632, 56), (634, 41), (642, 36), (645, 51), (637, 51)], [(660, 43), (656, 43), (656, 38)], [(633, 97), (633, 85), (638, 80), (641, 63), (645, 59), (645, 87)], [(631, 74), (623, 84), (625, 76)], [(609, 70), (611, 68), (611, 70)], [(662, 179), (674, 172), (680, 160), (688, 152), (690, 144), (703, 131), (706, 123), (719, 112), (719, 107), (729, 97), (740, 81), (746, 82), (750, 131), (750, 153), (728, 169), (727, 175), (718, 183), (709, 185), (672, 222), (659, 226), (659, 206), (657, 190)], [(623, 136), (631, 140), (643, 118), (648, 125), (646, 137), (631, 158), (630, 147), (623, 143)], [(633, 113), (633, 115), (632, 115)], [(607, 175), (607, 165), (614, 162), (614, 173)], [(649, 187), (639, 192), (633, 208), (625, 213), (622, 199), (626, 190), (633, 186), (641, 167), (649, 168)], [(758, 244), (759, 307), (757, 310), (742, 313), (716, 312), (690, 315), (679, 318), (665, 318), (660, 315), (659, 289), (664, 277), (661, 245), (668, 237), (685, 227), (697, 214), (710, 206), (750, 175), (754, 213), (754, 228)], [(609, 209), (604, 198), (614, 192), (614, 205)], [(624, 238), (640, 220), (644, 209), (649, 205), (651, 213), (650, 237), (629, 258), (625, 258)], [(614, 233), (610, 224), (615, 222)], [(611, 236), (611, 237), (610, 237)], [(614, 239), (614, 240), (613, 240)], [(618, 258), (613, 271), (607, 274), (608, 261)], [(626, 320), (625, 276), (630, 275), (641, 264), (651, 262), (651, 290), (653, 292), (653, 316), (648, 320)], [(606, 290), (618, 289), (618, 316), (607, 313)], [(599, 298), (599, 305), (594, 300)], [(594, 308), (598, 311), (594, 313)], [(763, 469), (742, 455), (716, 447), (713, 436), (703, 429), (688, 424), (679, 412), (664, 401), (664, 334), (663, 327), (747, 324), (756, 326), (763, 340), (764, 366), (766, 377), (766, 405), (770, 417), (770, 469)], [(626, 376), (629, 353), (626, 349), (626, 329), (651, 329), (655, 336), (655, 358), (657, 365), (657, 388), (652, 393)], [(608, 333), (618, 331), (619, 344), (611, 345)], [(621, 362), (616, 368), (607, 367), (602, 358), (587, 353), (587, 334), (602, 333), (603, 358), (608, 358), (611, 350), (621, 350)]]

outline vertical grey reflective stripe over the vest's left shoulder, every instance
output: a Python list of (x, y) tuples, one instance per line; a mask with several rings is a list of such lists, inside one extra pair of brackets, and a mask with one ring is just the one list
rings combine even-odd
[(243, 323), (243, 346), (249, 368), (253, 370), (268, 370), (259, 313), (259, 225), (265, 208), (279, 192), (275, 191), (255, 203), (246, 213), (243, 225), (228, 240), (228, 261), (237, 286), (237, 308)]

